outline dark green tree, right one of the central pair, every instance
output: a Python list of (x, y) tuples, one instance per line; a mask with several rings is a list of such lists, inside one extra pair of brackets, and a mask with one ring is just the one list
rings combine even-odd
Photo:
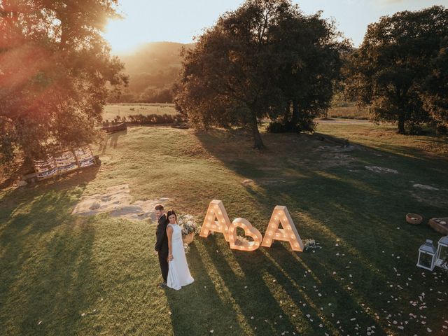
[(286, 131), (310, 131), (314, 118), (328, 110), (342, 55), (350, 48), (348, 41), (338, 41), (342, 35), (335, 23), (320, 15), (306, 16), (294, 8), (272, 31), (275, 52), (282, 60), (279, 87), (288, 101), (282, 116)]

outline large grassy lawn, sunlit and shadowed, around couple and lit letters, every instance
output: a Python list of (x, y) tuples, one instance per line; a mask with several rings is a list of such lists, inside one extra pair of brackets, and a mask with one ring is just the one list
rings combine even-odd
[[(447, 273), (415, 266), (419, 246), (440, 235), (404, 218), (448, 216), (447, 141), (372, 125), (318, 132), (356, 146), (263, 134), (258, 153), (238, 131), (130, 127), (95, 147), (100, 167), (4, 190), (1, 335), (446, 335)], [(231, 220), (262, 235), (274, 206), (286, 205), (302, 239), (322, 248), (244, 253), (222, 235), (196, 237), (195, 283), (160, 290), (154, 223), (71, 215), (82, 195), (121, 183), (135, 200), (169, 197), (199, 221), (223, 200)]]

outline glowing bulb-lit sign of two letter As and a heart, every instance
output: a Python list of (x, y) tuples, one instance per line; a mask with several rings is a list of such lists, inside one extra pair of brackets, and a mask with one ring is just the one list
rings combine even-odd
[[(279, 225), (283, 229), (279, 228)], [(246, 236), (252, 237), (253, 241), (246, 241), (242, 245), (235, 244), (237, 241), (237, 228), (242, 228)], [(303, 251), (302, 239), (295, 228), (293, 218), (288, 209), (277, 205), (272, 212), (271, 220), (267, 226), (265, 238), (262, 239), (260, 231), (253, 228), (251, 223), (244, 218), (236, 218), (232, 223), (225, 211), (223, 202), (213, 200), (209, 204), (207, 214), (204, 218), (204, 225), (200, 233), (201, 237), (208, 237), (210, 232), (221, 232), (226, 241), (230, 243), (230, 248), (240, 251), (255, 251), (258, 247), (271, 247), (272, 241), (288, 241), (293, 251)]]

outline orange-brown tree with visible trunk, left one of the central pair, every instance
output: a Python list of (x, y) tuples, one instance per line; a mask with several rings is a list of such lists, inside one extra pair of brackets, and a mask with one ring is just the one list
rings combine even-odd
[(258, 123), (285, 102), (274, 85), (278, 60), (269, 31), (290, 8), (287, 0), (248, 0), (184, 52), (174, 100), (190, 122), (247, 126), (254, 147), (263, 148)]

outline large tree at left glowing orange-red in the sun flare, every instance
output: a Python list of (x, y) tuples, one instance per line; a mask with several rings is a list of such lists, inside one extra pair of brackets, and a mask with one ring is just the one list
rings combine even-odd
[(117, 0), (0, 1), (0, 160), (94, 141), (123, 64), (101, 36)]

